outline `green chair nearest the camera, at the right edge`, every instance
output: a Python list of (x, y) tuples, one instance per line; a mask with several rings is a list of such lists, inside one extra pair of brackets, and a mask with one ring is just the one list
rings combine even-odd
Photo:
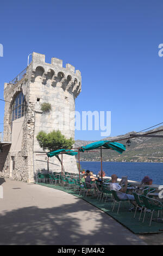
[(145, 196), (141, 196), (141, 198), (143, 200), (143, 203), (145, 204), (145, 214), (142, 222), (145, 221), (146, 211), (149, 210), (151, 212), (151, 220), (149, 222), (149, 227), (151, 227), (154, 211), (158, 211), (158, 218), (159, 218), (159, 212), (163, 210), (163, 204), (159, 200), (156, 200), (153, 198), (149, 198)]

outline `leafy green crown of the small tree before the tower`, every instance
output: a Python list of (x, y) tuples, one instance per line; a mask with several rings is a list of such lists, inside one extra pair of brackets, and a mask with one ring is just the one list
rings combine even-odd
[(43, 150), (48, 150), (50, 152), (58, 149), (71, 149), (74, 144), (72, 138), (66, 139), (60, 131), (52, 131), (49, 133), (40, 131), (36, 138), (40, 147)]

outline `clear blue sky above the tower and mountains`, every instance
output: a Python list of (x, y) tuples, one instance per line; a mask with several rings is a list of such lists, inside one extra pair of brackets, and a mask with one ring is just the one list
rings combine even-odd
[[(70, 63), (82, 72), (76, 110), (111, 111), (111, 135), (161, 123), (163, 2), (146, 0), (3, 1), (0, 84), (27, 66), (29, 53)], [(4, 102), (0, 101), (3, 131)], [(102, 139), (76, 131), (76, 139)]]

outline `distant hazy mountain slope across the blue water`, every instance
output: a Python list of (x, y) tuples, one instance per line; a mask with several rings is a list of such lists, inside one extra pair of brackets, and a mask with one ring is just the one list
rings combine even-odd
[[(163, 129), (160, 126), (156, 129), (150, 130), (158, 131)], [(119, 135), (115, 137), (107, 137), (103, 140), (112, 141), (114, 139), (126, 138), (130, 134), (135, 133), (135, 131), (126, 133), (125, 135)], [(144, 134), (146, 132), (141, 132), (139, 134)], [(154, 133), (155, 135), (163, 135), (163, 132)], [(118, 141), (118, 143), (126, 144), (127, 140)], [(126, 146), (126, 151), (121, 155), (113, 150), (103, 150), (103, 161), (116, 161), (116, 162), (163, 162), (163, 138), (146, 138), (146, 137), (136, 137), (130, 139), (130, 147)], [(75, 147), (81, 147), (92, 143), (93, 141), (80, 141), (79, 139), (75, 142)], [(80, 153), (80, 159), (82, 161), (100, 161), (100, 150), (94, 149), (93, 152), (85, 151), (85, 153)]]

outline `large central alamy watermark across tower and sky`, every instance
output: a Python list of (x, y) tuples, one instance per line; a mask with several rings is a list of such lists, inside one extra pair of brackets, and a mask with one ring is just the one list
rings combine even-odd
[(59, 130), (67, 130), (67, 126), (77, 131), (101, 131), (101, 136), (111, 133), (111, 111), (55, 111), (54, 119)]

